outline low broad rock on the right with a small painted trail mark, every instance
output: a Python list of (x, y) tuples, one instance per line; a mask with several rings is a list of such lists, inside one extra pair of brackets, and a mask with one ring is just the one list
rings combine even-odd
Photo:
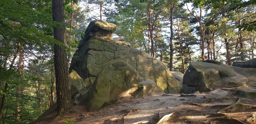
[(256, 86), (256, 69), (227, 66), (217, 61), (191, 62), (181, 93), (207, 92), (211, 87)]

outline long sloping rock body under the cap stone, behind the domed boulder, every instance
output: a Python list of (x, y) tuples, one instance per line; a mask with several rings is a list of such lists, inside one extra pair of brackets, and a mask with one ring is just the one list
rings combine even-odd
[[(114, 28), (115, 26), (110, 27), (110, 29)], [(76, 57), (72, 58), (70, 70), (75, 70), (85, 84), (91, 85), (87, 81), (93, 82), (105, 66), (122, 60), (131, 65), (141, 77), (155, 82), (165, 93), (179, 93), (181, 82), (173, 77), (162, 62), (143, 51), (132, 48), (125, 41), (102, 38), (92, 37), (89, 40), (85, 38), (81, 40), (79, 49), (74, 54)]]

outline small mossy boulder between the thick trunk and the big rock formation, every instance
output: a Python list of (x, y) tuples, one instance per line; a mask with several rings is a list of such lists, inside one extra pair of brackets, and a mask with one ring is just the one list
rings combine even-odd
[(71, 70), (69, 74), (70, 79), (70, 89), (71, 90), (71, 97), (73, 98), (76, 94), (79, 94), (86, 90), (86, 86), (83, 83), (83, 78), (81, 78), (76, 71)]

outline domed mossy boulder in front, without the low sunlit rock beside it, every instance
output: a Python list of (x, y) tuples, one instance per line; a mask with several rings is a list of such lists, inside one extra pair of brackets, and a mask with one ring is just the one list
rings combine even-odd
[(89, 91), (90, 111), (99, 109), (105, 102), (119, 97), (132, 87), (139, 87), (139, 73), (124, 61), (117, 61), (104, 67), (96, 77)]

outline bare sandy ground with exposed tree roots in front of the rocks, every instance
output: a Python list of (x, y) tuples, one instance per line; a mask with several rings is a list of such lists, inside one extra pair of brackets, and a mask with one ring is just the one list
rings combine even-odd
[(207, 93), (164, 94), (120, 98), (93, 112), (74, 106), (62, 117), (55, 118), (54, 112), (33, 123), (65, 124), (67, 120), (63, 118), (69, 118), (75, 124), (256, 124), (253, 114), (256, 114), (256, 99)]

